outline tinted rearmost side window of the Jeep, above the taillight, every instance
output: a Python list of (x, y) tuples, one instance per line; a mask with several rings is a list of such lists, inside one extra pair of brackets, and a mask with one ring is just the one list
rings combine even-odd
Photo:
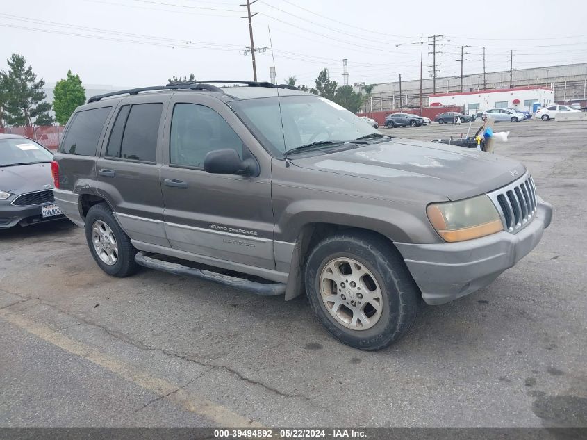
[(95, 156), (100, 133), (111, 110), (112, 107), (101, 107), (76, 113), (59, 152)]

